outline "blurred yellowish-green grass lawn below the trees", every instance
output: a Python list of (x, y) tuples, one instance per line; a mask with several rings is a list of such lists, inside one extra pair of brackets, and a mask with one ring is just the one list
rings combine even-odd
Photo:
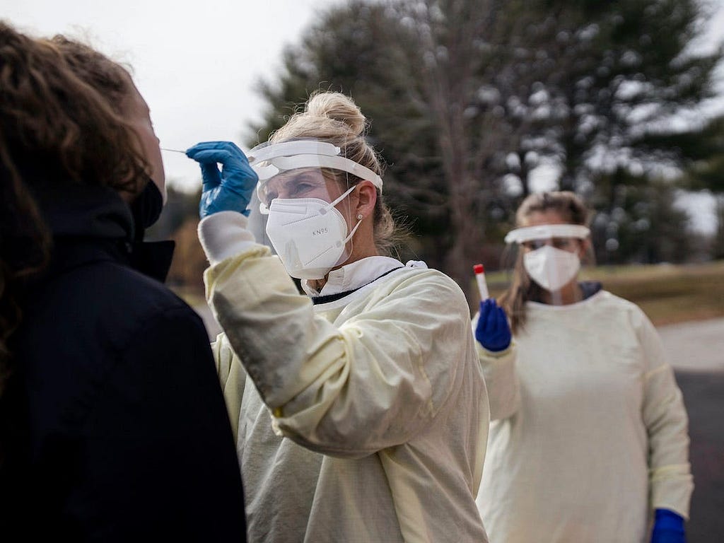
[[(490, 295), (499, 296), (505, 272), (486, 274)], [(654, 325), (724, 317), (724, 261), (675, 266), (599, 266), (581, 271), (583, 279), (636, 303)]]

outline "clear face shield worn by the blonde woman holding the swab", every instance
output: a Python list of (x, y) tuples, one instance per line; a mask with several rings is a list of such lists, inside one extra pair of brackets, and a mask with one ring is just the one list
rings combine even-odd
[(264, 236), (255, 235), (269, 240), (287, 273), (321, 279), (344, 264), (360, 224), (348, 198), (350, 179), (368, 179), (381, 190), (380, 177), (331, 143), (311, 139), (263, 143), (249, 151), (249, 164), (259, 176), (252, 228), (264, 224)]

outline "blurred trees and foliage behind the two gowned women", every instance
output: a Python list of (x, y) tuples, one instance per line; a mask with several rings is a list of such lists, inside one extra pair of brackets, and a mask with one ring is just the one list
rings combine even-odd
[[(460, 285), (501, 266), (502, 237), (531, 192), (575, 190), (595, 210), (598, 264), (724, 258), (721, 46), (699, 43), (696, 0), (351, 0), (328, 9), (282, 70), (258, 82), (256, 145), (315, 90), (353, 96), (387, 164), (384, 197), (411, 223), (403, 258)], [(677, 204), (717, 198), (704, 234)], [(179, 285), (200, 285), (198, 195), (172, 191), (151, 235), (177, 240)], [(183, 264), (181, 256), (184, 257)], [(473, 290), (468, 289), (468, 296)]]

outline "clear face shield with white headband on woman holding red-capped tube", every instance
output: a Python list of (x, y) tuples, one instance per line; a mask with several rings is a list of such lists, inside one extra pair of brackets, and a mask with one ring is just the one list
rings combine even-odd
[[(581, 224), (540, 224), (508, 232), (505, 243), (517, 243), (528, 277), (551, 293), (555, 303), (581, 269), (581, 248), (590, 230)], [(559, 300), (560, 301), (560, 300)]]

